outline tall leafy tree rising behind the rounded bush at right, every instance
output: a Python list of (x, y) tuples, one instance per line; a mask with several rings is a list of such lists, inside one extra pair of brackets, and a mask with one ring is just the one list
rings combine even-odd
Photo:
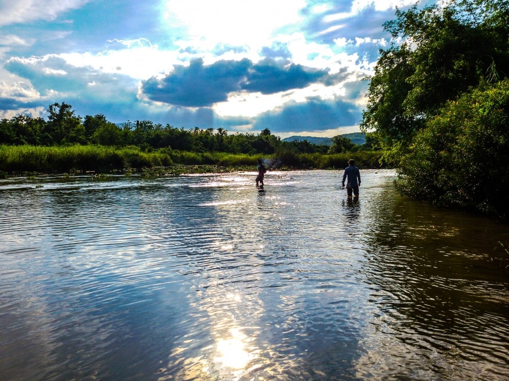
[(509, 0), (398, 9), (384, 29), (403, 42), (381, 51), (361, 128), (389, 144), (408, 145), (447, 101), (509, 74)]

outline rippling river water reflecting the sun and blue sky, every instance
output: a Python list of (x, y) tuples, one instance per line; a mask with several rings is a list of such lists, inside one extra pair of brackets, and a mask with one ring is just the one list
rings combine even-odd
[(390, 171), (0, 180), (0, 380), (506, 380), (507, 225)]

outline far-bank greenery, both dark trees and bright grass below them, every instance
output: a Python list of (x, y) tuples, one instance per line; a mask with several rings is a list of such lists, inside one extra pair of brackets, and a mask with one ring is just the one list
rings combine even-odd
[[(337, 150), (345, 154), (326, 155), (327, 146), (303, 141), (282, 142), (269, 129), (258, 135), (232, 134), (224, 129), (177, 129), (150, 120), (111, 123), (102, 114), (87, 115), (81, 123), (72, 107), (54, 103), (48, 108), (48, 121), (16, 116), (0, 121), (0, 169), (6, 172), (58, 171), (70, 176), (76, 172), (158, 173), (174, 163), (184, 166), (250, 168), (263, 157), (272, 168), (344, 168), (349, 151), (365, 149), (342, 136), (334, 137)], [(86, 144), (71, 144), (84, 142)], [(31, 145), (27, 144), (31, 143)], [(357, 153), (359, 155), (360, 153)], [(378, 167), (364, 151), (359, 160), (365, 167)], [(186, 171), (189, 168), (186, 169)], [(178, 171), (177, 171), (178, 172)]]

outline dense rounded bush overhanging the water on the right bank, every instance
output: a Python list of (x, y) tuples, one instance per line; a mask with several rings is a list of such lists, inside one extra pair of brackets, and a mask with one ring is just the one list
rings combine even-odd
[(509, 80), (450, 102), (404, 157), (400, 187), (439, 205), (509, 216)]

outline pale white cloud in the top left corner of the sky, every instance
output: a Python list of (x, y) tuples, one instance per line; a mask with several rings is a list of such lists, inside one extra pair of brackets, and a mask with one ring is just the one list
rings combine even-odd
[(77, 9), (89, 0), (0, 0), (0, 26), (34, 20), (54, 20), (59, 14)]

